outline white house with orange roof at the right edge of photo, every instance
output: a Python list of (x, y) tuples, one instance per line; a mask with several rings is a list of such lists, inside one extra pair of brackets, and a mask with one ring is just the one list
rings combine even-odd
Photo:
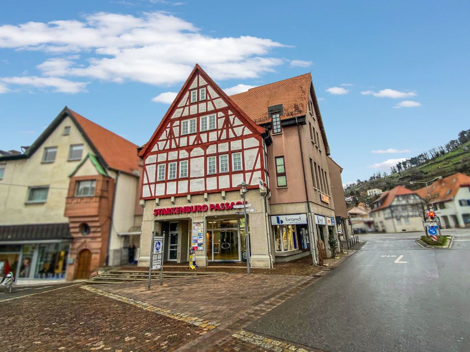
[(470, 227), (470, 176), (453, 174), (416, 193), (429, 203), (432, 202), (444, 228)]

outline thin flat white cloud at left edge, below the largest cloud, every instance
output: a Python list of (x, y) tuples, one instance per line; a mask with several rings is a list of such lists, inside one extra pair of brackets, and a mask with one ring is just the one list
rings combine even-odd
[(86, 91), (89, 82), (72, 82), (58, 77), (1, 77), (0, 81), (15, 86), (27, 86), (35, 88), (54, 88), (61, 93), (78, 93)]

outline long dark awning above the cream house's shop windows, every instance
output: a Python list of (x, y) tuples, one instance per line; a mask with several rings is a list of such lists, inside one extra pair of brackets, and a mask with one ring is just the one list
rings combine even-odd
[(71, 240), (69, 223), (0, 226), (0, 241)]

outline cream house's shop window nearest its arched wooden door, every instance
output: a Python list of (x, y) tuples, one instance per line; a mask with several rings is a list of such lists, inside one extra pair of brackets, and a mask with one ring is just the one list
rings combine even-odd
[(67, 271), (69, 243), (47, 243), (39, 245), (35, 279), (64, 279)]

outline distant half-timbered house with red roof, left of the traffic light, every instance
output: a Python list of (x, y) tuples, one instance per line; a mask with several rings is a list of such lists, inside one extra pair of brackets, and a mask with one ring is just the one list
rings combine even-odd
[(378, 232), (423, 230), (424, 200), (415, 191), (397, 186), (382, 193), (373, 203), (371, 215)]

